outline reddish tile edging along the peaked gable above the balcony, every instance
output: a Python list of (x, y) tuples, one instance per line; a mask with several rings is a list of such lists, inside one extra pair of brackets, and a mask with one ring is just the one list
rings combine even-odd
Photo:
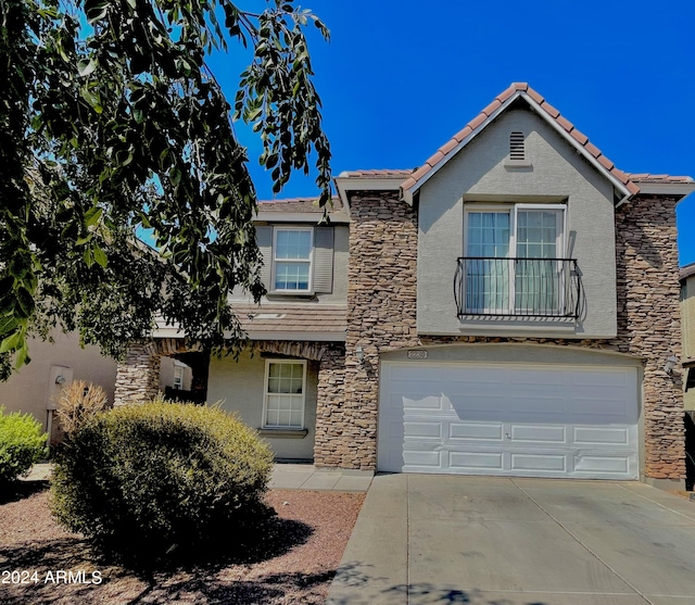
[(420, 168), (415, 171), (415, 173), (413, 173), (401, 187), (404, 190), (416, 188), (418, 182), (429, 175), (430, 172), (437, 169), (441, 164), (448, 160), (450, 157), (447, 156), (450, 156), (450, 154), (453, 155), (452, 152), (455, 152), (463, 141), (477, 134), (477, 131), (481, 129), (486, 121), (494, 115), (500, 108), (505, 103), (509, 103), (513, 98), (518, 97), (526, 98), (527, 101), (529, 99), (533, 101), (551, 121), (555, 122), (565, 133), (567, 133), (569, 137), (574, 139), (574, 141), (581, 146), (586, 153), (593, 156), (607, 173), (622, 184), (630, 194), (635, 194), (640, 191), (637, 185), (630, 179), (627, 173), (619, 171), (596, 146), (590, 142), (586, 135), (578, 130), (569, 119), (563, 116), (558, 110), (551, 105), (541, 94), (526, 83), (514, 83), (509, 88), (497, 94), (492, 103), (483, 109), (482, 112), (471, 119), (462, 130), (454, 135), (448, 142), (443, 144), (422, 166), (420, 166)]

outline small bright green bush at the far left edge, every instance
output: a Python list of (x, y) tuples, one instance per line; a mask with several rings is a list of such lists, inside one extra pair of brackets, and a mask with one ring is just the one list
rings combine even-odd
[(0, 406), (0, 483), (16, 479), (45, 457), (46, 438), (34, 416), (5, 414)]

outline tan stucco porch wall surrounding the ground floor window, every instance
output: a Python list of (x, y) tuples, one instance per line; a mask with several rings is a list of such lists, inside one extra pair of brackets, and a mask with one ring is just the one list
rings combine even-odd
[[(265, 378), (265, 361), (271, 356), (253, 357), (244, 351), (239, 361), (233, 357), (213, 357), (210, 362), (207, 378), (207, 402), (222, 401), (223, 409), (238, 412), (240, 418), (250, 427), (261, 428), (263, 425), (263, 392)], [(277, 358), (287, 358), (280, 357)], [(306, 368), (306, 407), (304, 427), (308, 433), (303, 439), (264, 438), (267, 439), (277, 458), (314, 457), (314, 438), (316, 430), (316, 394), (317, 364), (307, 362)]]

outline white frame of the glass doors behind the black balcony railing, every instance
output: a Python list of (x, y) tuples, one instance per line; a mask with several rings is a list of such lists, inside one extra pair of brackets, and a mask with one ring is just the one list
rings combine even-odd
[[(561, 230), (557, 237), (556, 249), (557, 249), (557, 259), (566, 257), (566, 245), (567, 245), (567, 204), (543, 204), (543, 203), (498, 203), (498, 204), (478, 204), (475, 202), (468, 202), (464, 205), (464, 241), (463, 241), (463, 251), (464, 256), (468, 256), (468, 215), (471, 212), (498, 212), (505, 213), (509, 215), (509, 245), (507, 257), (515, 259), (517, 256), (517, 216), (519, 211), (523, 210), (559, 210), (563, 211), (561, 215)], [(558, 307), (563, 308), (565, 295), (565, 288), (560, 288), (560, 299), (558, 300)], [(464, 277), (464, 293), (463, 301), (466, 304), (466, 278)], [(466, 310), (467, 311), (467, 310)], [(475, 313), (485, 313), (485, 311), (490, 310), (475, 310)], [(509, 261), (509, 307), (507, 311), (514, 315), (516, 311), (516, 279), (515, 279), (515, 269), (514, 262)]]

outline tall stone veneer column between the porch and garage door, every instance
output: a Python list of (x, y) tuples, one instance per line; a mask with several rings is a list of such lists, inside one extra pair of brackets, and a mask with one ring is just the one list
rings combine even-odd
[(396, 191), (377, 191), (352, 197), (351, 220), (343, 373), (334, 401), (319, 402), (315, 464), (376, 470), (379, 356), (418, 342), (417, 217)]

